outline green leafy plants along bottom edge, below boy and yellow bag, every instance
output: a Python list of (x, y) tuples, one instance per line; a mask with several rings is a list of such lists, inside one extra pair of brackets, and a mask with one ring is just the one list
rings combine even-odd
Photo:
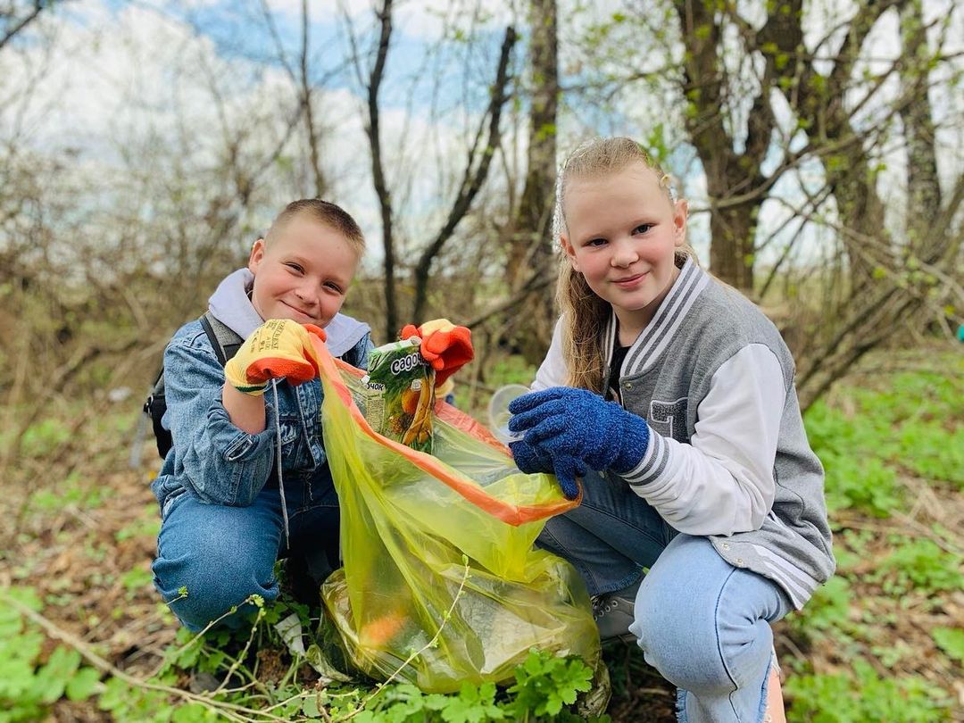
[[(220, 626), (197, 634), (179, 629), (152, 675), (144, 679), (102, 676), (97, 668), (82, 664), (84, 654), (95, 661), (98, 658), (79, 642), (75, 645), (80, 650), (58, 646), (41, 662), (45, 637), (28, 612), (38, 613), (42, 608), (34, 590), (0, 590), (0, 601), (10, 603), (0, 605), (3, 723), (39, 720), (61, 698), (91, 698), (97, 710), (114, 720), (156, 723), (582, 720), (572, 708), (578, 695), (591, 688), (593, 678), (593, 670), (577, 657), (532, 650), (517, 667), (515, 682), (502, 688), (494, 683), (464, 683), (458, 693), (443, 695), (424, 693), (411, 683), (383, 684), (362, 678), (325, 681), (308, 663), (313, 659), (317, 664), (321, 655), (317, 646), (310, 646), (304, 656), (295, 654), (276, 629), (292, 613), (299, 616), (305, 629), (316, 628), (317, 620), (308, 618), (308, 608), (283, 598), (264, 603), (257, 597), (244, 610), (232, 608), (225, 616), (246, 619), (237, 627)], [(184, 679), (201, 683), (204, 690), (196, 693), (175, 687)], [(609, 719), (593, 720), (604, 723)]]

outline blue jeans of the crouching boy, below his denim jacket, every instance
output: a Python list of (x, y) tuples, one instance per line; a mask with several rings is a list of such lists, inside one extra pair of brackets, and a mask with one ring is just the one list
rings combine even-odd
[[(284, 547), (281, 495), (262, 490), (245, 507), (206, 504), (189, 492), (161, 522), (154, 586), (187, 629), (197, 631), (251, 595), (278, 597), (275, 561), (303, 555), (321, 582), (338, 566), (338, 499), (331, 484), (285, 479), (291, 549)], [(187, 588), (187, 597), (178, 591)], [(240, 615), (225, 622), (236, 623)]]

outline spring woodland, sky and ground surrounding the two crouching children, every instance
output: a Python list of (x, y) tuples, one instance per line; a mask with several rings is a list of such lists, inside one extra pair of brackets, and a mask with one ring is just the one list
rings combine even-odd
[[(962, 54), (952, 0), (0, 1), (0, 720), (495, 719), (481, 690), (461, 718), (390, 687), (319, 710), (270, 631), (175, 640), (140, 406), (319, 196), (369, 239), (346, 310), (379, 342), (469, 325), (484, 420), (548, 345), (557, 164), (610, 134), (797, 363), (840, 572), (777, 629), (790, 719), (962, 719)], [(606, 660), (614, 720), (668, 719), (638, 651)], [(238, 710), (199, 672), (247, 673)]]

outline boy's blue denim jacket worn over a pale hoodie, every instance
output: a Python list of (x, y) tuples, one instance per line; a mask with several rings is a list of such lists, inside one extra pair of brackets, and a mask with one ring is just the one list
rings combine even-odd
[[(340, 356), (345, 362), (365, 368), (372, 343), (367, 327), (358, 334), (361, 339)], [(212, 504), (251, 504), (276, 465), (272, 388), (265, 392), (266, 428), (252, 435), (234, 426), (221, 398), (225, 370), (200, 321), (185, 324), (168, 343), (164, 380), (168, 411), (162, 423), (171, 430), (174, 446), (151, 485), (161, 516), (166, 516), (174, 498), (184, 493)], [(308, 495), (312, 486), (320, 494), (318, 485), (331, 485), (321, 438), (321, 384), (313, 380), (292, 387), (281, 381), (275, 388), (282, 478), (308, 483)]]

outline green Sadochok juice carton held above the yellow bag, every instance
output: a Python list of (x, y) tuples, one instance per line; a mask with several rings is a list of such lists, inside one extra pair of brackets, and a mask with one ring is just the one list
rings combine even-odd
[(415, 336), (373, 349), (362, 377), (362, 414), (389, 440), (432, 453), (435, 369), (418, 353)]

